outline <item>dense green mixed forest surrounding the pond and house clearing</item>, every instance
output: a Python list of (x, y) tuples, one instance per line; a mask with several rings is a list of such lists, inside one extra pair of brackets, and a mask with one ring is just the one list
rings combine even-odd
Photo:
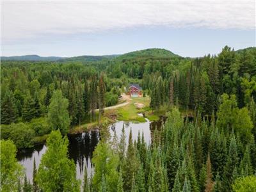
[[(255, 47), (85, 58), (1, 62), (1, 191), (256, 191)], [(167, 118), (150, 145), (143, 132), (133, 142), (132, 129), (126, 145), (124, 130), (111, 138), (104, 124), (104, 108), (129, 83), (150, 96), (150, 113)], [(94, 173), (81, 181), (65, 134), (86, 121), (99, 123), (100, 141)], [(30, 184), (17, 148), (46, 138)]]

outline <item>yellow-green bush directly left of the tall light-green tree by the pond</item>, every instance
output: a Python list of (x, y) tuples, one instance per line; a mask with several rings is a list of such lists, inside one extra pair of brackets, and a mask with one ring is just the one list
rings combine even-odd
[(42, 136), (51, 132), (51, 127), (49, 126), (46, 118), (35, 118), (31, 120), (29, 125), (31, 129), (35, 131), (36, 136)]

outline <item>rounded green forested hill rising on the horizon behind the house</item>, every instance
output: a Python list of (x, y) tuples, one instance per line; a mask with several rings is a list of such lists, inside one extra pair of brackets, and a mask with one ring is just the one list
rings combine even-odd
[(171, 51), (168, 51), (166, 49), (143, 49), (140, 51), (133, 51), (128, 52), (125, 54), (122, 54), (121, 56), (118, 56), (118, 59), (132, 59), (132, 58), (145, 58), (145, 57), (157, 57), (157, 58), (173, 58), (173, 57), (180, 57), (177, 54), (174, 54)]

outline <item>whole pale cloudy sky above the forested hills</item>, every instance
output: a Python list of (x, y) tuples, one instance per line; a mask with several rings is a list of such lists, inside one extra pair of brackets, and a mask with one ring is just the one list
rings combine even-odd
[(1, 2), (1, 55), (123, 54), (148, 48), (180, 56), (255, 46), (255, 1)]

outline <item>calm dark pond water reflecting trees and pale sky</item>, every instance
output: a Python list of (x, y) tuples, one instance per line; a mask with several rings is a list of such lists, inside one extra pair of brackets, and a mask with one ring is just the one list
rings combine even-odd
[[(147, 118), (146, 118), (147, 120)], [(122, 127), (124, 125), (126, 141), (128, 143), (129, 132), (132, 130), (132, 139), (136, 140), (138, 138), (138, 133), (144, 134), (145, 142), (147, 144), (150, 143), (151, 140), (151, 132), (155, 127), (159, 127), (161, 122), (152, 122), (150, 123), (148, 120), (145, 123), (134, 124), (132, 122), (116, 122), (113, 125), (109, 126), (109, 132), (111, 136), (114, 135), (114, 131), (116, 131), (116, 135), (120, 140), (120, 136), (122, 133)], [(77, 179), (83, 180), (83, 170), (84, 166), (87, 168), (88, 175), (92, 173), (93, 166), (91, 163), (92, 154), (97, 146), (99, 141), (99, 132), (98, 131), (90, 131), (83, 132), (82, 134), (69, 135), (69, 146), (68, 146), (68, 154), (69, 157), (74, 159), (76, 163), (76, 175)], [(26, 174), (28, 179), (31, 181), (33, 177), (33, 159), (35, 157), (36, 168), (38, 168), (40, 164), (40, 159), (42, 155), (47, 150), (46, 145), (37, 145), (34, 148), (19, 150), (17, 153), (17, 159), (20, 164), (26, 168)]]

